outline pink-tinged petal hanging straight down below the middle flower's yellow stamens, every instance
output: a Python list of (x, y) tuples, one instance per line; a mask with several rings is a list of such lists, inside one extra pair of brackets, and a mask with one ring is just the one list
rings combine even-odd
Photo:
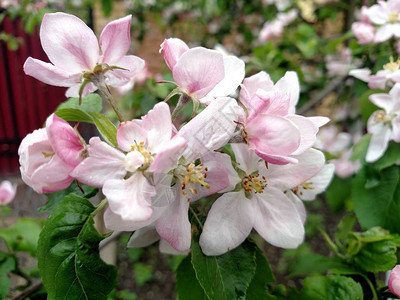
[(192, 232), (188, 217), (189, 202), (177, 193), (176, 200), (156, 221), (156, 229), (161, 238), (175, 250), (187, 251), (190, 248)]

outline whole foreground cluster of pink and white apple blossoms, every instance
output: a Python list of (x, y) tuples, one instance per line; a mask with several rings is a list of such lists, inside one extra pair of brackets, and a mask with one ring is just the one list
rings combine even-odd
[[(129, 16), (109, 23), (98, 44), (79, 19), (48, 14), (41, 39), (53, 64), (28, 58), (25, 71), (69, 86), (68, 95), (126, 83), (144, 66), (125, 55), (129, 25)], [(295, 112), (297, 74), (287, 72), (276, 83), (265, 72), (244, 78), (239, 58), (189, 48), (176, 38), (166, 39), (160, 51), (177, 86), (166, 100), (180, 97), (172, 113), (167, 103), (158, 103), (141, 119), (121, 121), (115, 144), (92, 137), (88, 145), (52, 114), (46, 128), (21, 143), (23, 180), (38, 193), (64, 189), (74, 179), (101, 188), (109, 204), (106, 227), (135, 231), (132, 247), (161, 239), (166, 251), (188, 251), (191, 204), (217, 193), (209, 198), (216, 199), (211, 208), (205, 206), (204, 226), (198, 224), (205, 254), (237, 247), (253, 228), (275, 246), (297, 247), (306, 218), (301, 199), (313, 200), (333, 174), (333, 165), (312, 148), (329, 120)], [(188, 102), (193, 116), (179, 124)]]

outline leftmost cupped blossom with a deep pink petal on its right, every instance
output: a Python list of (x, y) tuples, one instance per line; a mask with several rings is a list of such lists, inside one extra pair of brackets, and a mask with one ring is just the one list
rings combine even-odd
[(18, 149), (22, 180), (37, 193), (67, 188), (71, 171), (83, 159), (84, 146), (74, 129), (52, 114), (46, 128), (28, 134)]

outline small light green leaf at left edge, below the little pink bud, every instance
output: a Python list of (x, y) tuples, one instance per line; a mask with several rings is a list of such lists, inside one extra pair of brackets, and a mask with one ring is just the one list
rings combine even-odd
[(36, 256), (42, 220), (20, 219), (10, 227), (0, 229), (0, 238), (13, 251), (26, 251)]

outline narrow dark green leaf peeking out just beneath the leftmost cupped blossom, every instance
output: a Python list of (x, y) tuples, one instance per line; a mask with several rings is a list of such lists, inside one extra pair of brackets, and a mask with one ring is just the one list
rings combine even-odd
[(87, 186), (84, 184), (80, 184), (80, 186), (83, 189), (83, 191), (85, 192), (84, 194), (82, 194), (82, 191), (76, 184), (75, 180), (71, 183), (71, 185), (69, 187), (67, 187), (64, 190), (61, 190), (61, 191), (58, 191), (55, 193), (51, 193), (51, 194), (46, 194), (47, 202), (45, 205), (39, 207), (38, 211), (39, 212), (51, 212), (58, 205), (58, 203), (60, 203), (61, 200), (64, 199), (65, 196), (67, 196), (71, 193), (74, 193), (76, 195), (79, 195), (79, 196), (89, 199), (91, 197), (94, 197), (97, 194), (97, 192), (99, 191), (98, 188), (94, 188), (94, 187)]

